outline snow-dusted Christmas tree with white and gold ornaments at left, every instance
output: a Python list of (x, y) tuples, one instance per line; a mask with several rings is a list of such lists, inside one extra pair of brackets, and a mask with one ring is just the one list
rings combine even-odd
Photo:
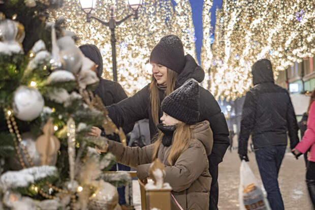
[[(0, 209), (118, 209), (111, 154), (98, 155), (116, 133), (99, 97), (96, 66), (76, 47), (64, 19), (48, 22), (62, 0), (0, 1)], [(115, 187), (111, 184), (115, 185)]]

